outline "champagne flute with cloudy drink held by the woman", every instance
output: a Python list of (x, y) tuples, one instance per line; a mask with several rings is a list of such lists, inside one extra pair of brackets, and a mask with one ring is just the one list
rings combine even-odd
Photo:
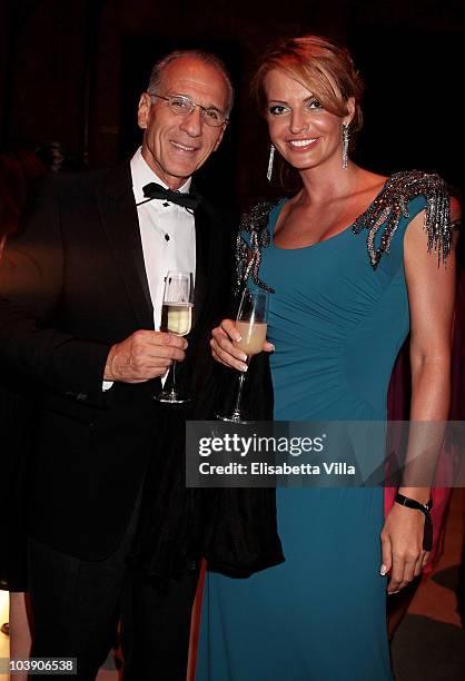
[[(239, 310), (236, 317), (236, 326), (241, 335), (240, 340), (235, 340), (234, 345), (247, 355), (247, 364), (250, 358), (261, 353), (266, 340), (267, 318), (268, 318), (269, 296), (265, 290), (249, 290), (246, 288), (240, 299)], [(218, 414), (220, 421), (231, 423), (250, 423), (246, 420), (241, 411), (241, 398), (245, 372), (238, 372), (238, 382), (233, 412), (227, 415)]]

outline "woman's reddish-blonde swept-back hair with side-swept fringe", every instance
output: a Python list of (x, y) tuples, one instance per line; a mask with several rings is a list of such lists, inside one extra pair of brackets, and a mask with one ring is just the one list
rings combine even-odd
[(265, 78), (269, 71), (286, 71), (318, 99), (320, 105), (336, 116), (347, 115), (347, 100), (355, 100), (355, 114), (350, 122), (350, 139), (363, 125), (363, 80), (354, 61), (344, 47), (338, 47), (319, 36), (303, 36), (281, 40), (265, 53), (253, 81), (251, 90), (261, 112), (267, 97)]

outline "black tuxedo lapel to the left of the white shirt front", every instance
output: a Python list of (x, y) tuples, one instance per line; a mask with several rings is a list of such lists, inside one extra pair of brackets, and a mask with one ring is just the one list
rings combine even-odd
[[(101, 221), (111, 244), (140, 328), (154, 328), (154, 308), (144, 261), (129, 164), (110, 171), (97, 190)], [(105, 275), (103, 275), (105, 276)], [(116, 300), (117, 305), (118, 302)]]

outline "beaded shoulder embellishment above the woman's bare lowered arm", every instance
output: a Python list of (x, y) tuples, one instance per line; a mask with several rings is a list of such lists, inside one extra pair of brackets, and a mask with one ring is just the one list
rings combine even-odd
[[(437, 254), (438, 263), (446, 263), (451, 253), (451, 198), (445, 181), (435, 174), (422, 170), (395, 172), (386, 182), (369, 208), (354, 223), (354, 234), (368, 230), (366, 245), (369, 261), (376, 269), (382, 256), (389, 253), (390, 241), (400, 218), (408, 218), (407, 204), (417, 196), (426, 197), (424, 229), (428, 236), (428, 253)], [(375, 248), (375, 237), (383, 227), (380, 245)]]

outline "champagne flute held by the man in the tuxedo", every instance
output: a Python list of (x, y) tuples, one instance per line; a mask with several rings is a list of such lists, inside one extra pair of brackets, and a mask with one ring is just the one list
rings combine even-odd
[[(187, 336), (192, 325), (194, 283), (191, 272), (168, 272), (165, 279), (160, 330)], [(155, 397), (158, 402), (182, 404), (190, 397), (179, 395), (176, 387), (176, 359), (165, 383), (165, 388)]]

